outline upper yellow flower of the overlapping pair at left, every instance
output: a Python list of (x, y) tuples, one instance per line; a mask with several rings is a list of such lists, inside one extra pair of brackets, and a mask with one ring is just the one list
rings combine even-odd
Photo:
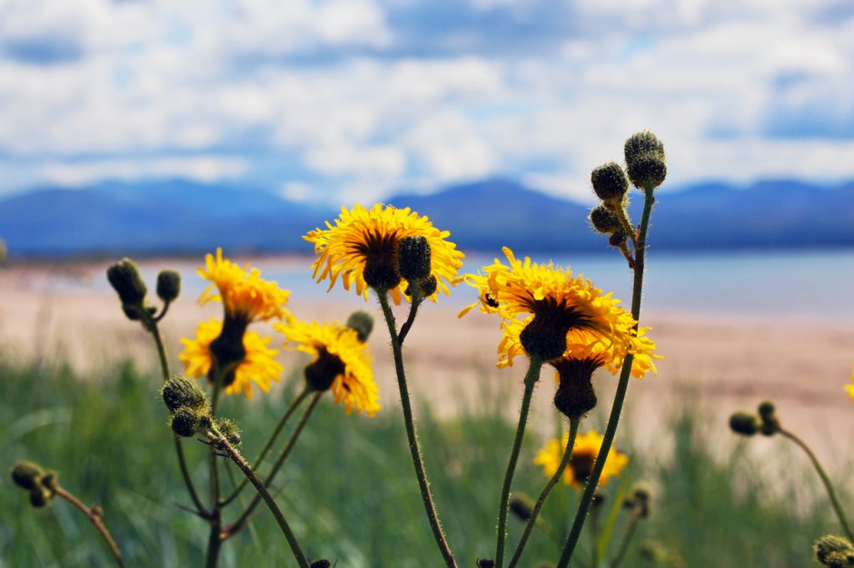
[(258, 269), (242, 269), (231, 260), (223, 259), (222, 249), (216, 250), (215, 258), (206, 255), (204, 265), (204, 269), (198, 269), (199, 276), (209, 280), (211, 285), (202, 292), (200, 304), (221, 301), (226, 318), (245, 323), (290, 317), (284, 305), (291, 292), (262, 279)]

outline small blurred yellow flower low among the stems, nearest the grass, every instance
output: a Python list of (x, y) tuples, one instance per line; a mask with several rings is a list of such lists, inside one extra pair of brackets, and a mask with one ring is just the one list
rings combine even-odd
[[(569, 439), (569, 433), (564, 433), (561, 442), (558, 442), (556, 439), (549, 440), (545, 446), (542, 446), (536, 457), (534, 457), (534, 464), (542, 465), (542, 473), (546, 477), (551, 477), (558, 471), (558, 466), (561, 465), (561, 459), (563, 458), (563, 453), (566, 451)], [(593, 464), (596, 461), (596, 457), (599, 455), (603, 439), (604, 436), (601, 436), (595, 430), (576, 436), (575, 445), (572, 446), (570, 463), (563, 471), (564, 484), (572, 485), (578, 489), (587, 482), (593, 471)], [(599, 485), (605, 485), (611, 477), (620, 475), (623, 467), (628, 463), (629, 457), (627, 455), (621, 454), (611, 447), (599, 478)]]

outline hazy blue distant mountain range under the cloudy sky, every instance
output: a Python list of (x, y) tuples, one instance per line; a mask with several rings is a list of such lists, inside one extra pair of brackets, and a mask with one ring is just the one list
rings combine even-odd
[[(635, 193), (631, 211), (639, 217)], [(514, 181), (456, 185), (386, 202), (427, 215), (462, 250), (606, 250), (589, 208)], [(352, 203), (343, 204), (351, 206)], [(364, 204), (369, 205), (369, 204)], [(254, 252), (311, 252), (302, 236), (340, 206), (308, 206), (265, 191), (191, 181), (45, 188), (0, 200), (0, 238), (10, 257), (198, 254), (222, 246)], [(761, 181), (663, 192), (650, 242), (658, 250), (854, 247), (854, 181), (826, 188)]]

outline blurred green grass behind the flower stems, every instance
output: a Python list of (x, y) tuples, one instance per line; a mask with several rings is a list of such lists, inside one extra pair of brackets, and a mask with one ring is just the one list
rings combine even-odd
[[(92, 377), (78, 377), (61, 365), (34, 365), (0, 366), (0, 381), (0, 455), (6, 467), (18, 459), (35, 461), (57, 470), (60, 483), (85, 503), (102, 505), (104, 522), (128, 566), (202, 565), (207, 525), (181, 509), (189, 498), (156, 377), (144, 376), (130, 363)], [(271, 396), (230, 397), (223, 404), (223, 414), (243, 428), (244, 455), (252, 457), (263, 444), (264, 433), (298, 386), (297, 377), (291, 377)], [(514, 425), (501, 417), (501, 401), (492, 402), (452, 418), (435, 416), (429, 406), (417, 410), (433, 495), (460, 566), (473, 566), (477, 557), (494, 552), (495, 509)], [(415, 485), (402, 418), (393, 409), (374, 419), (345, 416), (326, 398), (303, 433), (275, 490), (311, 558), (328, 558), (341, 568), (441, 563)], [(707, 451), (710, 432), (700, 426), (699, 414), (673, 414), (670, 432), (661, 434), (672, 436), (672, 453), (662, 457), (643, 448), (621, 448), (631, 456), (631, 477), (656, 489), (654, 513), (640, 524), (622, 565), (812, 564), (812, 543), (838, 532), (838, 526), (806, 467), (793, 466), (789, 477), (769, 485), (734, 436), (730, 458), (721, 462)], [(582, 430), (588, 427), (582, 424)], [(527, 437), (514, 487), (537, 495), (545, 478), (531, 458), (544, 440)], [(205, 448), (193, 442), (186, 446), (198, 486), (204, 488)], [(609, 500), (603, 518), (628, 485), (617, 480), (605, 488)], [(92, 526), (68, 504), (35, 510), (8, 475), (0, 479), (0, 489), (0, 566), (112, 565)], [(805, 493), (819, 496), (804, 505)], [(244, 492), (244, 502), (249, 496)], [(571, 523), (575, 499), (574, 492), (559, 486), (543, 509), (542, 518), (558, 534)], [(623, 517), (613, 527), (611, 553)], [(521, 528), (511, 519), (511, 546)], [(666, 547), (670, 562), (645, 563), (638, 553), (644, 540)], [(548, 535), (535, 531), (521, 565), (554, 561), (559, 553)], [(587, 534), (578, 557), (584, 562), (574, 565), (589, 565)], [(250, 530), (224, 545), (220, 565), (291, 566), (293, 557), (264, 510)]]

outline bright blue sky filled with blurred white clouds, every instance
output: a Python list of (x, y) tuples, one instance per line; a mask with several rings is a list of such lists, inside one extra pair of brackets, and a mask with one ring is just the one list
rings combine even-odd
[(851, 0), (0, 0), (0, 198), (185, 178), (378, 201), (854, 179)]

